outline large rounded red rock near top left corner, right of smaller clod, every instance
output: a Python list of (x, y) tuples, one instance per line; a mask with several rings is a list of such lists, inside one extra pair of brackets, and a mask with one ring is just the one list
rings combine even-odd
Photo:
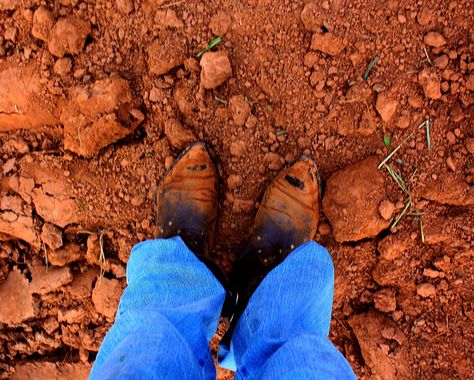
[(90, 33), (91, 26), (88, 21), (76, 16), (60, 18), (51, 29), (48, 50), (56, 57), (80, 53)]

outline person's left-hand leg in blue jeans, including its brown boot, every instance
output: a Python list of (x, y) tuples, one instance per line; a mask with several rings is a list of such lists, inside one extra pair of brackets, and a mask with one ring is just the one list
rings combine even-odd
[(214, 164), (204, 144), (193, 144), (158, 187), (159, 239), (133, 248), (91, 379), (215, 377), (209, 340), (226, 295), (210, 251), (217, 204)]

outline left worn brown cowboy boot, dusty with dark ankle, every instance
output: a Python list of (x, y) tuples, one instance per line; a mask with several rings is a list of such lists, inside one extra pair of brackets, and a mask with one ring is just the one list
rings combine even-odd
[(217, 219), (217, 172), (203, 143), (189, 146), (174, 161), (156, 194), (158, 238), (179, 236), (223, 283), (210, 256)]

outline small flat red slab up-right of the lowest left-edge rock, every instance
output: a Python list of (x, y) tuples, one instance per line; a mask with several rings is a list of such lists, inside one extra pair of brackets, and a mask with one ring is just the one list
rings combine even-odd
[(32, 294), (46, 294), (56, 291), (72, 281), (72, 273), (69, 267), (54, 268), (47, 267), (41, 263), (34, 263), (30, 267)]

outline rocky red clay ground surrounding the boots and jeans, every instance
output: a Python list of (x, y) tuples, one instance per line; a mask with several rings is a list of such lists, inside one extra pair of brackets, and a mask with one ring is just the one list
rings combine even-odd
[(196, 140), (226, 270), (266, 184), (311, 156), (331, 340), (361, 378), (472, 377), (473, 24), (467, 0), (0, 0), (2, 377), (87, 376)]

